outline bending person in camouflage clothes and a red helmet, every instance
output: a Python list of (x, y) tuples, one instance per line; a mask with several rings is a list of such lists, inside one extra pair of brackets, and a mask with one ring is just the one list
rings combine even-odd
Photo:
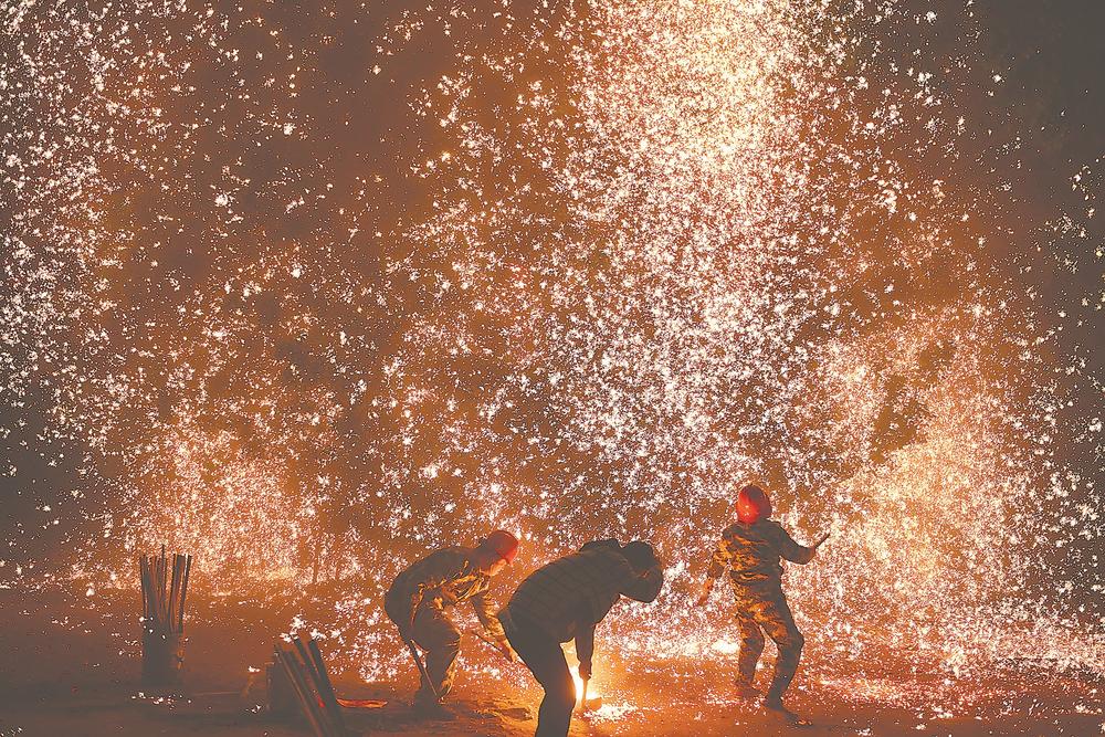
[(446, 609), (472, 603), (480, 623), (504, 655), (515, 660), (503, 627), (487, 600), (491, 579), (518, 555), (518, 538), (497, 529), (474, 548), (436, 550), (396, 577), (383, 600), (383, 610), (407, 642), (425, 650), (425, 670), (414, 695), (415, 708), (433, 708), (453, 685), (461, 631)]

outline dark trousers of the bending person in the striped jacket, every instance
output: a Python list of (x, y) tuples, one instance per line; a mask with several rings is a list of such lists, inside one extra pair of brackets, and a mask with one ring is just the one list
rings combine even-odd
[(522, 617), (503, 622), (506, 639), (545, 688), (534, 737), (566, 737), (576, 707), (576, 684), (560, 643)]

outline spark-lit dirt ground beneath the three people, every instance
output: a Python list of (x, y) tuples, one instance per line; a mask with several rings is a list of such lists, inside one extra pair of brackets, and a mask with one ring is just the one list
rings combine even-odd
[[(0, 589), (0, 737), (309, 734), (267, 713), (264, 673), (250, 672), (263, 667), (272, 643), (287, 630), (291, 610), (197, 596), (190, 604), (196, 615), (188, 625), (183, 684), (178, 693), (155, 694), (138, 682), (138, 628), (129, 594), (82, 593), (57, 586)], [(388, 701), (381, 709), (346, 710), (350, 733), (532, 735), (540, 689), (522, 671), (496, 677), (486, 650), (471, 642), (465, 647), (469, 667), (457, 678), (449, 718), (411, 712), (413, 674), (366, 683), (356, 673), (333, 668), (339, 695)], [(769, 668), (770, 656), (766, 660)], [(732, 657), (702, 663), (635, 656), (608, 666), (617, 677), (597, 673), (602, 708), (576, 718), (571, 735), (1105, 734), (1105, 683), (1093, 673), (1007, 664), (982, 681), (950, 686), (970, 691), (969, 706), (918, 707), (926, 693), (948, 693), (944, 676), (913, 673), (891, 660), (878, 667), (856, 666), (853, 673), (819, 668), (815, 654), (808, 660), (789, 702), (812, 727), (782, 725), (734, 698)]]

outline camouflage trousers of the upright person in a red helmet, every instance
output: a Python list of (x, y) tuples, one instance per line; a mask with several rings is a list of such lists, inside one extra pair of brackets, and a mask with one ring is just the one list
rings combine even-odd
[(775, 675), (768, 689), (768, 698), (782, 698), (794, 680), (798, 663), (802, 657), (806, 639), (794, 624), (794, 617), (787, 604), (780, 586), (735, 586), (737, 596), (737, 625), (740, 628), (740, 654), (737, 667), (743, 685), (751, 685), (756, 674), (756, 663), (764, 652), (764, 633), (771, 638), (779, 649), (775, 662)]

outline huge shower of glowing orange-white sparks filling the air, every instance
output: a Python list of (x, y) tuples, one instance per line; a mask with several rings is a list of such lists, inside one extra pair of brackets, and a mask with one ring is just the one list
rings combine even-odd
[(0, 573), (339, 578), (376, 678), (433, 546), (644, 537), (610, 630), (725, 659), (688, 597), (756, 477), (833, 533), (811, 651), (1101, 673), (1101, 162), (1010, 224), (969, 8), (839, 4), (10, 7)]

